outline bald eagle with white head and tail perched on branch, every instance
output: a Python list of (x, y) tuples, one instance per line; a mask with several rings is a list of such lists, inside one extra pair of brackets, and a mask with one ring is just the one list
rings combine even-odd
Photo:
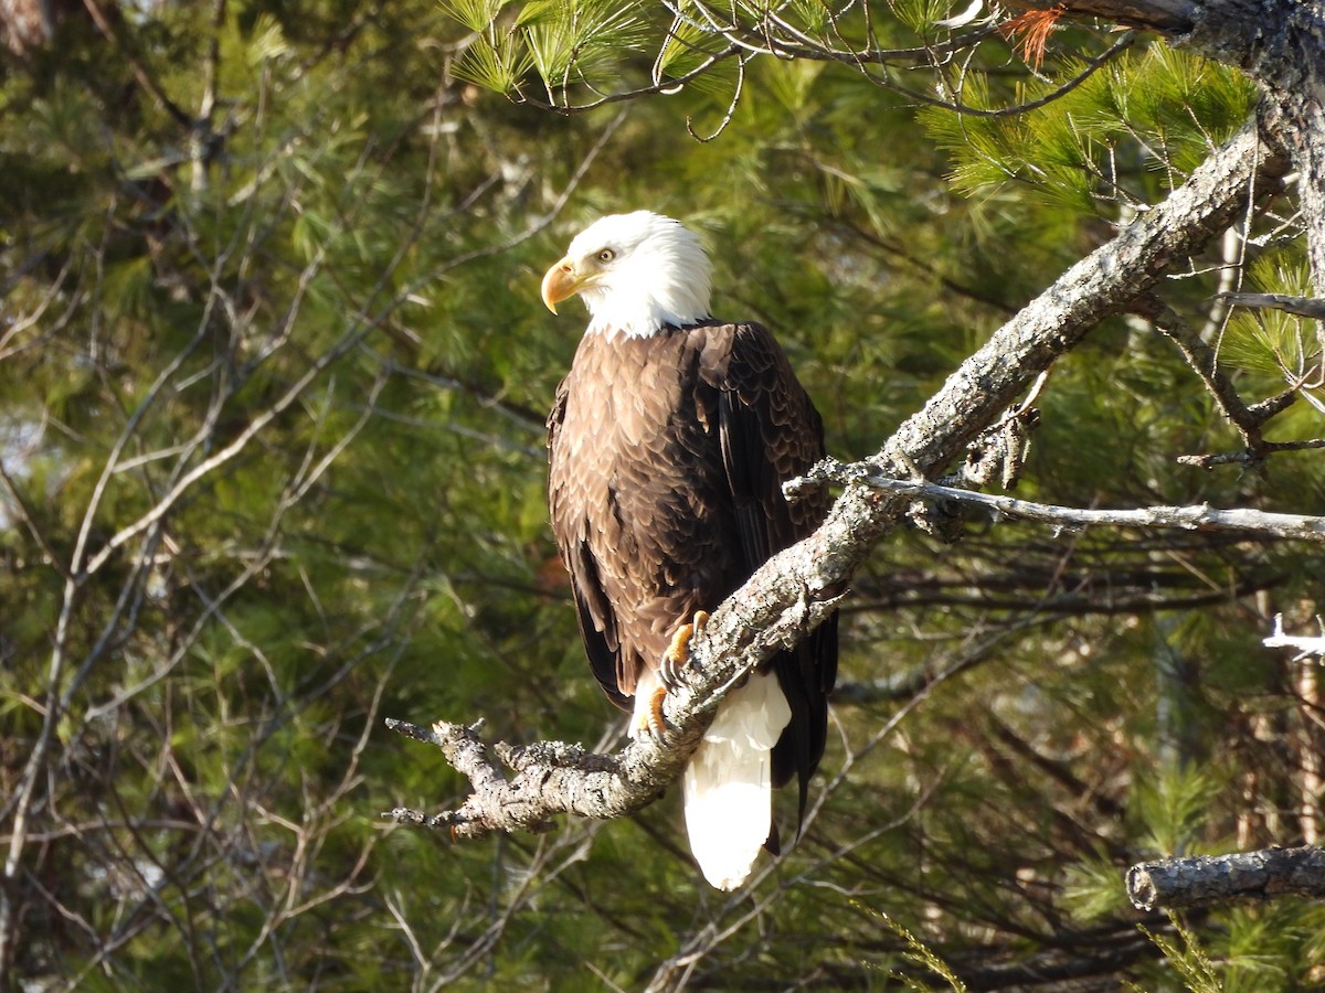
[[(824, 454), (823, 426), (782, 348), (709, 312), (710, 262), (680, 222), (639, 211), (584, 229), (543, 277), (543, 302), (579, 295), (590, 324), (547, 420), (553, 531), (590, 665), (661, 731), (670, 667), (694, 626), (827, 512), (782, 483)], [(684, 776), (690, 849), (733, 890), (776, 853), (771, 788), (796, 777), (798, 829), (823, 755), (836, 618), (723, 699)]]

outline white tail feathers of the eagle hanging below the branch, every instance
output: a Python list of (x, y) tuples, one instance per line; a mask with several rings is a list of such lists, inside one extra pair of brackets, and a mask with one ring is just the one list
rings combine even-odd
[(735, 890), (772, 825), (772, 747), (791, 707), (772, 673), (753, 674), (718, 706), (685, 767), (685, 826), (704, 878)]

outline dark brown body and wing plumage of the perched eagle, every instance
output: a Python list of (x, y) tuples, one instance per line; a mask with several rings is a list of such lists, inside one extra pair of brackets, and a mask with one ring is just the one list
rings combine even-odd
[[(716, 323), (586, 335), (547, 426), (553, 531), (586, 650), (629, 708), (677, 626), (823, 519), (824, 496), (792, 507), (780, 489), (823, 457), (823, 428), (763, 327)], [(836, 657), (829, 621), (772, 662), (792, 710), (774, 781), (799, 773), (802, 806)]]

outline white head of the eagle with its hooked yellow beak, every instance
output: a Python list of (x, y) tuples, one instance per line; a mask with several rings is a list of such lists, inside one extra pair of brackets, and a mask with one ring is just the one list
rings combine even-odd
[(579, 294), (586, 334), (647, 338), (665, 324), (709, 316), (712, 267), (704, 246), (680, 221), (636, 211), (603, 217), (575, 236), (566, 257), (543, 277), (543, 303)]

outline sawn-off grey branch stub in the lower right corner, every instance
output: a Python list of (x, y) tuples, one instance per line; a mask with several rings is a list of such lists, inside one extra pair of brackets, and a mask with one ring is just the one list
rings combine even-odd
[(1265, 849), (1238, 855), (1142, 862), (1128, 871), (1128, 896), (1141, 910), (1211, 907), (1293, 894), (1325, 896), (1325, 849)]

